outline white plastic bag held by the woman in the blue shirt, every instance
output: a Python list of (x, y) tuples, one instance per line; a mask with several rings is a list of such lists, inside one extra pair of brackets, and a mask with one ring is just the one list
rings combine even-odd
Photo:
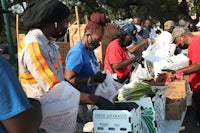
[(107, 76), (103, 83), (98, 84), (97, 89), (95, 91), (95, 95), (102, 96), (106, 99), (110, 99), (113, 95), (115, 95), (122, 87), (122, 84), (118, 83), (112, 78), (108, 72), (106, 72)]

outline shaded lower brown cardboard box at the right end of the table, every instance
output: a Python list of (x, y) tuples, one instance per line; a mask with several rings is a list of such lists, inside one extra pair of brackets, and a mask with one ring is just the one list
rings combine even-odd
[(166, 104), (165, 119), (166, 120), (180, 120), (183, 111), (186, 109), (186, 100), (180, 99), (172, 103)]

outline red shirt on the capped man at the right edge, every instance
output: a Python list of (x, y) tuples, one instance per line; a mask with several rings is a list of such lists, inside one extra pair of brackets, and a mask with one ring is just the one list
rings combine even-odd
[[(200, 37), (194, 36), (188, 47), (190, 65), (200, 62)], [(200, 92), (200, 72), (189, 75), (189, 83), (193, 92)]]

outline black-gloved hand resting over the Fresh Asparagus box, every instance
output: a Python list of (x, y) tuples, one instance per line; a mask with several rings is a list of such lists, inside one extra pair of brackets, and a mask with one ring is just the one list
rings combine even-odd
[(114, 110), (115, 109), (115, 105), (111, 101), (109, 101), (108, 99), (105, 99), (101, 96), (99, 96), (99, 99), (95, 105), (97, 105), (99, 107), (99, 109), (106, 109), (106, 110)]

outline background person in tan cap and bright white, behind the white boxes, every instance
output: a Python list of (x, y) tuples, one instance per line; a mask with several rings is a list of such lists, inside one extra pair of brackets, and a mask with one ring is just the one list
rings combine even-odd
[(172, 39), (172, 30), (174, 29), (175, 24), (174, 21), (172, 20), (167, 20), (164, 23), (164, 31), (158, 36), (158, 39), (165, 42), (165, 43), (170, 43)]

